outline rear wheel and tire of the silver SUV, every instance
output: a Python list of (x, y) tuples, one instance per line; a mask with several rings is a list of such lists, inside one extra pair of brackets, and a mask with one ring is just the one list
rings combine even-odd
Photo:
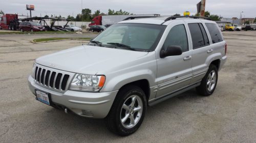
[[(211, 77), (212, 74), (214, 77)], [(214, 93), (218, 81), (218, 69), (215, 65), (210, 65), (207, 73), (201, 81), (199, 87), (197, 87), (197, 92), (202, 96), (210, 96)], [(207, 84), (208, 83), (208, 84)]]

